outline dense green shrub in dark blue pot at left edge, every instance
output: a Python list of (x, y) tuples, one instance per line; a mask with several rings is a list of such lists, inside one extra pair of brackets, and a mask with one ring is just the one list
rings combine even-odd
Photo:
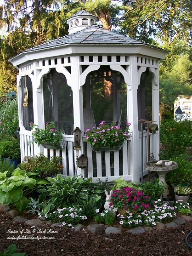
[(10, 164), (14, 163), (14, 167), (17, 168), (17, 165), (21, 163), (20, 141), (18, 138), (6, 136), (3, 140), (0, 140), (0, 158), (9, 159)]

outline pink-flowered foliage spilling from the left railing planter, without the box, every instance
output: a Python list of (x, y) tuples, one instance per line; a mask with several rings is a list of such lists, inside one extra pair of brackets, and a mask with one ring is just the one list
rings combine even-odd
[[(50, 124), (45, 125), (45, 129), (40, 129), (38, 125), (30, 123), (30, 128), (32, 131), (32, 136), (34, 137), (34, 142), (40, 146), (42, 142), (51, 143), (53, 145), (58, 144), (62, 140), (63, 131), (57, 131), (55, 128), (55, 123), (50, 122)], [(34, 130), (35, 129), (35, 130)]]

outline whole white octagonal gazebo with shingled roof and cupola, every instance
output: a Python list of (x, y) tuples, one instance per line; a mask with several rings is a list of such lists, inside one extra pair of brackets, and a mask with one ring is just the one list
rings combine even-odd
[[(11, 58), (19, 70), (21, 157), (40, 152), (62, 156), (63, 176), (73, 176), (77, 159), (73, 130), (79, 127), (79, 156), (88, 158), (88, 166), (78, 167), (78, 174), (95, 181), (106, 177), (112, 181), (119, 176), (139, 181), (142, 165), (138, 120), (155, 120), (159, 125), (158, 61), (166, 57), (167, 51), (103, 29), (96, 20), (89, 12), (79, 11), (67, 21), (68, 35)], [(93, 152), (86, 142), (84, 131), (102, 120), (131, 123), (132, 138), (121, 150)], [(29, 143), (33, 141), (29, 123), (44, 128), (50, 121), (65, 130), (66, 146), (62, 150)], [(144, 163), (146, 136), (144, 132)], [(150, 153), (158, 159), (159, 132), (150, 134)]]

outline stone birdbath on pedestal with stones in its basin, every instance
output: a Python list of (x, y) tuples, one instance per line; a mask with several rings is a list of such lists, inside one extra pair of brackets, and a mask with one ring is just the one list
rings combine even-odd
[(169, 160), (162, 160), (161, 165), (155, 165), (157, 162), (158, 162), (158, 160), (147, 162), (147, 163), (145, 163), (144, 167), (149, 171), (157, 172), (158, 177), (159, 177), (159, 183), (164, 182), (164, 184), (166, 184), (166, 182), (165, 182), (166, 174), (169, 171), (177, 169), (178, 165), (176, 162), (172, 161), (171, 165), (166, 166), (165, 162), (170, 162)]

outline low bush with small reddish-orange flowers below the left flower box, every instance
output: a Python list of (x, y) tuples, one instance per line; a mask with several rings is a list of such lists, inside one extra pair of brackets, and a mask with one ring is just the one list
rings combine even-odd
[(40, 153), (40, 155), (31, 157), (29, 163), (21, 163), (19, 168), (28, 172), (36, 172), (40, 178), (46, 178), (47, 176), (56, 176), (57, 173), (61, 173), (62, 165), (60, 160), (61, 158), (58, 156), (53, 156), (49, 159), (43, 153)]

